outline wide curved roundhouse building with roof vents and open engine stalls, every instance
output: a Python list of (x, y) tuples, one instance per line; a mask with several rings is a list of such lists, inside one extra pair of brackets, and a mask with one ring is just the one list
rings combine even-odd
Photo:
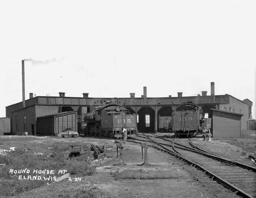
[[(211, 82), (210, 95), (207, 91), (197, 96), (183, 96), (178, 92), (176, 97), (148, 97), (147, 88), (143, 88), (143, 95), (135, 97), (130, 93), (128, 98), (93, 98), (89, 93), (83, 97), (66, 97), (64, 92), (59, 96), (36, 96), (30, 93), (30, 98), (6, 107), (6, 117), (11, 118), (11, 133), (24, 133), (38, 135), (37, 118), (56, 113), (77, 111), (77, 130), (81, 132), (84, 114), (92, 112), (93, 107), (113, 102), (130, 110), (137, 115), (137, 129), (139, 132), (156, 132), (158, 116), (171, 116), (172, 110), (180, 104), (192, 102), (203, 109), (203, 116), (212, 118), (212, 109), (243, 114), (241, 117), (241, 130), (247, 129), (252, 102), (249, 99), (241, 101), (229, 94), (215, 95), (214, 82)], [(39, 134), (40, 135), (40, 134)]]

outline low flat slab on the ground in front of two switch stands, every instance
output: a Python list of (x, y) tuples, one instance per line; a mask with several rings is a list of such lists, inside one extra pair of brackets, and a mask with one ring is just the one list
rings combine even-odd
[(177, 173), (170, 170), (124, 170), (119, 178), (127, 179), (160, 179), (160, 178), (179, 178)]

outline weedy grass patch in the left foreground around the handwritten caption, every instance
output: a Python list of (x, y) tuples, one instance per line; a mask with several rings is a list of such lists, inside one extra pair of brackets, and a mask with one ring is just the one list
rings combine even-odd
[[(7, 155), (0, 155), (0, 164), (6, 164), (5, 167), (0, 167), (1, 196), (19, 195), (22, 192), (51, 183), (54, 181), (54, 177), (58, 178), (63, 175), (58, 174), (59, 170), (67, 170), (66, 173), (70, 173), (72, 177), (82, 177), (95, 173), (96, 167), (91, 165), (89, 156), (68, 158), (70, 144), (48, 141), (48, 143), (41, 145), (34, 142), (31, 144), (23, 142), (22, 145), (26, 144), (28, 144), (27, 148), (19, 147)], [(38, 151), (41, 153), (38, 154)], [(25, 169), (29, 170), (29, 173), (10, 172), (10, 170), (20, 170), (21, 172)], [(33, 173), (34, 170), (53, 170), (54, 174)], [(33, 176), (37, 177), (34, 179)]]

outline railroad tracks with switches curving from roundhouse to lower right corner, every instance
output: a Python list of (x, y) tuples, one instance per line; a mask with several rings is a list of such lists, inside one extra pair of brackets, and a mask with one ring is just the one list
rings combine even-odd
[[(136, 138), (130, 141), (137, 141), (136, 143), (147, 141), (149, 146), (167, 152), (184, 163), (189, 164), (190, 167), (203, 171), (212, 181), (217, 181), (236, 195), (248, 198), (256, 197), (255, 167), (250, 167), (202, 150), (196, 147), (191, 139), (170, 140), (154, 134), (143, 134), (137, 135)], [(204, 180), (205, 177), (201, 179)]]

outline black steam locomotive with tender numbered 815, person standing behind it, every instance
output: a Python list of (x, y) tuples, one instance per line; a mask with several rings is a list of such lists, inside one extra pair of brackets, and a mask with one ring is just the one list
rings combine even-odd
[(137, 118), (130, 114), (122, 105), (108, 103), (96, 107), (93, 112), (84, 115), (86, 127), (84, 135), (120, 137), (122, 128), (126, 128), (128, 135), (137, 133)]

